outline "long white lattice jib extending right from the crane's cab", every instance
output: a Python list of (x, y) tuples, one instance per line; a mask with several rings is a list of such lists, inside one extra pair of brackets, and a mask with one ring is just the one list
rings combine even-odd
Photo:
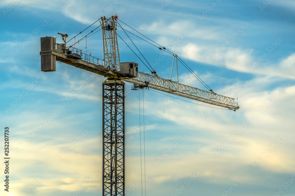
[(216, 93), (210, 91), (204, 91), (198, 88), (187, 86), (181, 83), (177, 83), (164, 78), (156, 77), (148, 73), (138, 72), (137, 78), (121, 78), (123, 81), (130, 82), (133, 84), (143, 84), (148, 82), (148, 87), (159, 91), (164, 91), (166, 93), (171, 93), (174, 95), (186, 97), (189, 99), (201, 101), (204, 103), (209, 103), (212, 105), (221, 106), (224, 108), (229, 108), (232, 110), (239, 109), (235, 99), (217, 95)]

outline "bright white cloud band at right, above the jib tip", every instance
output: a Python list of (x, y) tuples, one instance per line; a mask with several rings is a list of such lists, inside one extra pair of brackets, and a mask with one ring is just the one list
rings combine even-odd
[[(218, 48), (218, 46), (216, 46)], [(292, 75), (295, 67), (295, 54), (291, 54), (278, 61), (277, 64), (261, 63), (253, 64), (253, 50), (242, 50), (239, 48), (227, 48), (218, 56), (214, 56), (216, 48), (213, 46), (199, 46), (189, 43), (178, 49), (182, 56), (201, 63), (226, 67), (229, 70), (253, 73), (266, 76), (279, 76), (288, 78)], [(213, 58), (213, 57), (214, 58)]]

